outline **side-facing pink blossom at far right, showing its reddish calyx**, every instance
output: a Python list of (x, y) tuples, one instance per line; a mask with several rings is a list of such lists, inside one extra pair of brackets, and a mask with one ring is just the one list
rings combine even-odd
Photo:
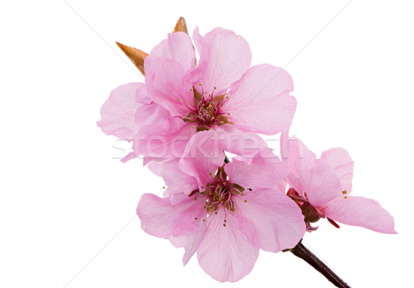
[(286, 181), (288, 196), (302, 208), (308, 231), (311, 223), (326, 218), (335, 227), (337, 222), (395, 234), (394, 220), (380, 203), (352, 192), (353, 161), (342, 148), (322, 152), (321, 158), (308, 150), (298, 138), (286, 141), (282, 134), (282, 159), (289, 165)]

